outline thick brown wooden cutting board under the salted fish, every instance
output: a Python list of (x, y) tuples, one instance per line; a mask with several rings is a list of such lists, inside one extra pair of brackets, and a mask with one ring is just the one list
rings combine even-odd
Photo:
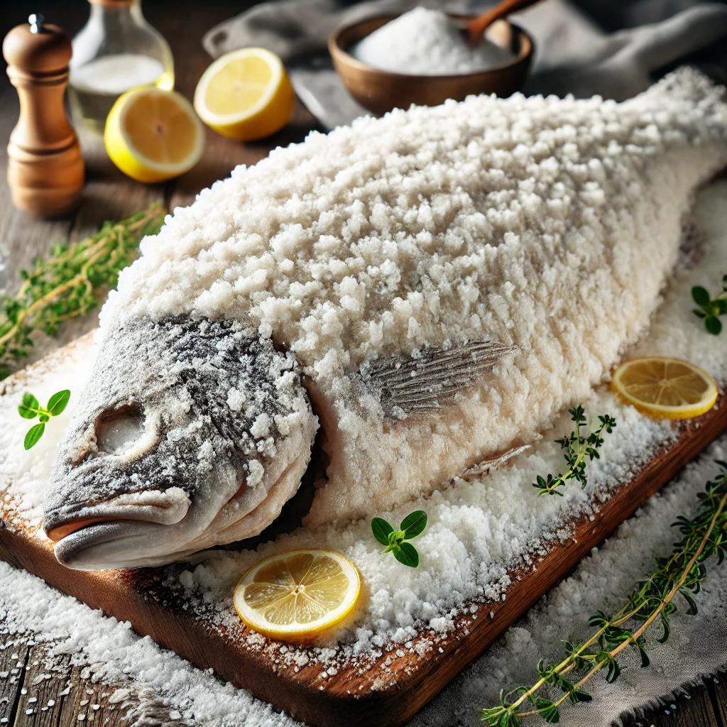
[[(63, 350), (52, 356), (60, 361)], [(48, 364), (45, 364), (46, 366)], [(57, 365), (57, 364), (51, 364)], [(25, 374), (0, 385), (23, 387)], [(185, 608), (177, 592), (164, 584), (168, 569), (134, 571), (71, 571), (55, 560), (52, 544), (35, 528), (18, 525), (12, 505), (0, 503), (0, 558), (23, 568), (50, 585), (79, 598), (91, 608), (131, 622), (162, 646), (201, 668), (246, 688), (265, 702), (316, 727), (387, 727), (406, 722), (491, 644), (510, 624), (598, 545), (616, 526), (643, 505), (687, 462), (727, 429), (727, 396), (693, 422), (678, 424), (678, 438), (659, 451), (630, 483), (616, 489), (593, 515), (572, 521), (573, 537), (555, 543), (535, 559), (537, 569), (510, 574), (507, 600), (474, 603), (475, 611), (459, 616), (446, 636), (422, 632), (414, 646), (427, 648), (383, 650), (376, 658), (339, 668), (324, 664), (286, 665), (276, 644), (249, 638), (240, 623), (215, 624)], [(12, 526), (6, 525), (12, 522)], [(170, 566), (174, 567), (174, 566)], [(290, 647), (289, 647), (290, 648)], [(277, 656), (276, 656), (277, 655)], [(289, 660), (288, 660), (289, 661)]]

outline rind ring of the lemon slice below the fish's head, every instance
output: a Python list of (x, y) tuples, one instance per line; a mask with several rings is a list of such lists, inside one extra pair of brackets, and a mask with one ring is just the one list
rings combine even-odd
[[(334, 609), (334, 611), (330, 611), (329, 614), (332, 615), (325, 616), (323, 619), (318, 619), (318, 621), (315, 621), (312, 624), (305, 624), (305, 627), (302, 627), (301, 624), (294, 624), (292, 626), (285, 627), (273, 627), (269, 626), (267, 622), (264, 621), (264, 619), (254, 619), (247, 616), (246, 613), (257, 613), (257, 611), (247, 608), (246, 606), (239, 606), (238, 594), (242, 593), (242, 589), (244, 588), (244, 586), (252, 583), (252, 577), (254, 577), (254, 574), (257, 573), (257, 571), (259, 571), (262, 567), (270, 563), (270, 561), (277, 561), (287, 555), (293, 555), (294, 553), (310, 553), (314, 557), (316, 555), (326, 555), (328, 558), (333, 558), (344, 568), (348, 576), (349, 585), (341, 606)], [(259, 563), (255, 563), (252, 568), (245, 571), (235, 588), (233, 603), (235, 606), (235, 611), (237, 612), (237, 615), (240, 617), (241, 621), (252, 630), (257, 631), (264, 636), (268, 636), (268, 638), (289, 638), (297, 640), (313, 638), (340, 624), (340, 622), (342, 622), (347, 616), (349, 616), (354, 608), (356, 608), (360, 595), (361, 573), (358, 571), (358, 568), (356, 568), (356, 566), (348, 560), (348, 558), (345, 558), (345, 556), (341, 555), (340, 553), (332, 553), (332, 551), (330, 550), (299, 548), (297, 550), (286, 550), (282, 553), (270, 555), (270, 557), (264, 558)], [(240, 598), (240, 600), (242, 601), (242, 603), (244, 603), (243, 599)]]

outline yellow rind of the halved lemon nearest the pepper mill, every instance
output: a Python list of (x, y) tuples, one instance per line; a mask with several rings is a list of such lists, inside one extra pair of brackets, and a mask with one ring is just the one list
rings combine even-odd
[[(184, 161), (180, 161), (177, 164), (164, 164), (158, 161), (153, 161), (153, 159), (150, 159), (142, 154), (134, 146), (132, 140), (129, 138), (129, 134), (126, 133), (125, 121), (131, 101), (139, 94), (165, 96), (172, 94), (174, 95), (175, 103), (178, 103), (188, 113), (195, 127), (196, 142), (192, 153), (190, 153), (188, 158), (186, 158)], [(116, 108), (116, 104), (119, 104), (118, 108)], [(190, 169), (192, 169), (193, 166), (195, 166), (197, 162), (202, 158), (205, 142), (204, 126), (199, 120), (197, 113), (193, 108), (193, 105), (190, 104), (189, 101), (179, 92), (165, 91), (164, 89), (158, 89), (154, 86), (131, 89), (121, 95), (121, 97), (119, 97), (119, 99), (116, 101), (116, 104), (114, 104), (114, 108), (111, 109), (111, 112), (108, 115), (104, 136), (107, 140), (106, 146), (108, 154), (109, 156), (111, 156), (111, 161), (113, 161), (116, 166), (119, 166), (119, 169), (121, 169), (121, 171), (124, 171), (124, 168), (116, 161), (116, 158), (119, 158), (121, 160), (121, 158), (123, 157), (124, 166), (132, 166), (134, 168), (134, 171), (136, 172), (136, 174), (129, 174), (129, 176), (134, 176), (134, 179), (140, 179), (144, 182), (162, 181), (166, 179), (172, 179), (172, 177), (178, 177), (180, 176), (180, 174), (185, 174), (185, 172), (188, 172)], [(115, 145), (113, 145), (114, 136), (121, 137), (121, 141), (123, 141), (125, 146), (123, 151), (117, 150)], [(111, 141), (111, 144), (109, 143), (109, 141)], [(132, 162), (132, 164), (129, 164), (129, 162)], [(151, 172), (151, 174), (149, 174), (148, 172)], [(129, 172), (125, 173), (128, 174)]]

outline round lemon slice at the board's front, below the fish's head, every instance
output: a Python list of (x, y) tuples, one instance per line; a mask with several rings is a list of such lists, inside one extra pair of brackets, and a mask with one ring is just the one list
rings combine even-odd
[(257, 563), (235, 589), (238, 616), (270, 638), (313, 640), (345, 619), (361, 593), (350, 561), (327, 550), (289, 550)]

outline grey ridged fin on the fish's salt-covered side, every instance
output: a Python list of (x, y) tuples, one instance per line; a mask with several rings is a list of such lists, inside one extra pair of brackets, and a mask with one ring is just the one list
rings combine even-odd
[(517, 347), (493, 341), (423, 348), (416, 356), (384, 356), (361, 366), (361, 379), (386, 417), (431, 414), (471, 387)]

